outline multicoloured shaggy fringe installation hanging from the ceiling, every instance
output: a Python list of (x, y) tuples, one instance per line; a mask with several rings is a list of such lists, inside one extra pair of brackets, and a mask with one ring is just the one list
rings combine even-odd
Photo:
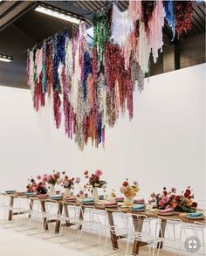
[(69, 38), (67, 31), (45, 39), (27, 52), (27, 83), (38, 111), (52, 102), (57, 128), (83, 150), (105, 143), (106, 126), (120, 114), (134, 112), (134, 90), (141, 92), (163, 45), (164, 18), (177, 38), (191, 28), (192, 1), (130, 1), (121, 12), (116, 3), (93, 17), (93, 46), (87, 44), (86, 24)]

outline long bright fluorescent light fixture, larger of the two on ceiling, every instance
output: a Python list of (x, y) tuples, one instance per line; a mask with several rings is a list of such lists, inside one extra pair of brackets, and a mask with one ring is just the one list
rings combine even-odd
[(65, 10), (52, 8), (51, 6), (39, 5), (35, 10), (37, 10), (38, 12), (50, 15), (52, 17), (58, 17), (58, 18), (64, 19), (74, 24), (79, 24), (80, 22), (80, 19), (78, 17), (74, 17), (71, 13), (66, 12)]

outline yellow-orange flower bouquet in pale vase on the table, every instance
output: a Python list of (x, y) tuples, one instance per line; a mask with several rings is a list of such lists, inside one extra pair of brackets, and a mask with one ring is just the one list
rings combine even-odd
[(120, 187), (120, 192), (126, 197), (125, 204), (131, 205), (134, 204), (134, 197), (140, 190), (139, 183), (134, 181), (133, 183), (129, 184), (128, 179), (122, 183)]

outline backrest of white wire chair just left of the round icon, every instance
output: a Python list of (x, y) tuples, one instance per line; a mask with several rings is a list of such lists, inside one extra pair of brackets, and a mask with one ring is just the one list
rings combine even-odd
[(160, 223), (160, 236), (166, 239), (180, 239), (182, 220), (179, 218), (158, 218)]

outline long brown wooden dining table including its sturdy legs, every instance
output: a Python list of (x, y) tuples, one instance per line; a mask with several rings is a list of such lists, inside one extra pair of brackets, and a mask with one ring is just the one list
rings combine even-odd
[[(14, 205), (14, 200), (17, 197), (18, 198), (29, 198), (31, 200), (31, 203), (30, 203), (30, 208), (31, 209), (32, 209), (33, 201), (34, 200), (39, 200), (40, 204), (41, 204), (42, 211), (45, 211), (45, 201), (46, 202), (49, 201), (51, 203), (58, 203), (58, 213), (59, 214), (62, 214), (63, 207), (65, 207), (65, 205), (66, 205), (63, 200), (52, 200), (52, 199), (46, 199), (45, 200), (45, 199), (39, 199), (38, 197), (25, 197), (25, 196), (17, 196), (15, 194), (5, 194), (5, 193), (0, 193), (0, 195), (5, 195), (5, 196), (9, 196), (10, 197), (10, 206)], [(113, 212), (115, 212), (115, 211), (121, 211), (123, 213), (131, 213), (133, 218), (135, 218), (135, 216), (138, 216), (138, 213), (130, 210), (130, 206), (125, 207), (125, 206), (120, 205), (120, 206), (118, 206), (118, 207), (116, 207), (114, 209), (106, 209), (105, 203), (106, 203), (105, 201), (101, 201), (100, 200), (100, 203), (93, 204), (93, 207), (95, 209), (97, 209), (97, 210), (102, 210), (102, 211), (106, 210), (110, 225), (113, 225)], [(82, 209), (83, 209), (83, 212), (84, 212), (84, 210), (86, 208), (86, 205), (82, 205), (80, 203), (76, 203), (76, 205), (77, 206), (81, 206)], [(64, 210), (65, 210), (65, 214), (68, 215), (68, 211), (67, 211), (66, 207), (65, 207)], [(24, 214), (24, 212), (20, 212), (18, 214)], [(147, 208), (146, 208), (145, 211), (140, 212), (140, 214), (143, 214), (143, 215), (147, 216), (148, 218), (159, 218), (160, 217), (158, 215), (158, 211), (151, 211), (151, 210), (148, 210)], [(8, 215), (8, 220), (11, 221), (12, 217), (14, 215), (17, 215), (17, 212), (13, 212), (12, 210), (10, 210), (9, 211), (9, 215)], [(83, 216), (81, 216), (81, 218), (83, 218)], [(174, 219), (175, 218), (179, 218), (179, 219), (182, 220), (182, 222), (190, 223), (190, 224), (193, 224), (195, 222), (195, 220), (187, 218), (185, 213), (178, 213), (178, 212), (176, 212), (175, 215), (169, 216), (168, 218), (174, 218)], [(44, 218), (43, 221), (44, 221), (45, 229), (48, 229), (48, 225), (46, 223), (46, 218)], [(52, 220), (52, 221), (56, 222), (55, 233), (58, 233), (59, 232), (59, 227), (60, 227), (60, 221), (59, 220)], [(205, 223), (205, 219), (199, 220), (199, 222), (204, 224)], [(161, 225), (164, 226), (165, 223), (167, 223), (167, 219), (161, 219)], [(70, 224), (67, 224), (67, 225), (70, 226)], [(122, 237), (116, 236), (115, 232), (111, 232), (110, 235), (111, 235), (111, 242), (112, 242), (112, 245), (113, 245), (113, 249), (116, 250), (116, 249), (119, 248), (118, 247), (118, 239), (121, 239)], [(134, 241), (133, 253), (134, 254), (138, 254), (140, 247), (141, 246), (145, 246), (145, 245), (147, 245), (147, 243), (139, 242), (139, 241)], [(162, 248), (162, 243), (161, 243), (161, 248)]]

